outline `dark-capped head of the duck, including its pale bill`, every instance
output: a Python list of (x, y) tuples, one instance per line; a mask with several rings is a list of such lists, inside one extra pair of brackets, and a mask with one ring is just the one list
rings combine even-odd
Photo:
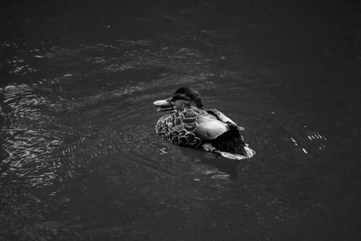
[(156, 100), (153, 105), (158, 111), (182, 110), (186, 107), (203, 107), (199, 92), (194, 88), (178, 88), (172, 97)]

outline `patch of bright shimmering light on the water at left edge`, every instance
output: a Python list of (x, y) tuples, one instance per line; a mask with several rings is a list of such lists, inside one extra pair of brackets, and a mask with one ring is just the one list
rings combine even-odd
[(57, 136), (47, 129), (40, 107), (47, 104), (44, 97), (36, 96), (26, 85), (8, 86), (2, 89), (4, 97), (5, 126), (2, 129), (3, 146), (7, 158), (2, 175), (23, 178), (30, 186), (46, 186), (56, 176), (60, 163), (48, 162), (46, 156), (60, 144)]

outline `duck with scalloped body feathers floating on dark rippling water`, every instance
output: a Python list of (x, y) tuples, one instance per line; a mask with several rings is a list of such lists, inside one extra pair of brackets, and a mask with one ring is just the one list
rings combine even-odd
[(179, 88), (173, 97), (153, 104), (160, 111), (171, 111), (158, 120), (155, 131), (172, 144), (202, 147), (230, 159), (241, 160), (255, 155), (240, 134), (244, 128), (217, 109), (201, 109), (202, 100), (197, 90)]

